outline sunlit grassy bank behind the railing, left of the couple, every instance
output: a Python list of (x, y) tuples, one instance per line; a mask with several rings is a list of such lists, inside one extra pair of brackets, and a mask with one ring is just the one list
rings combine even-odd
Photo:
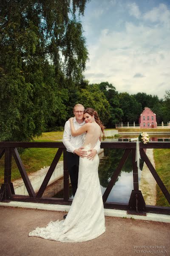
[[(46, 132), (42, 133), (42, 136), (36, 138), (35, 142), (54, 142), (55, 140), (62, 139), (63, 132)], [(28, 174), (37, 172), (44, 166), (50, 166), (54, 156), (57, 152), (57, 148), (26, 148), (26, 150), (20, 154), (23, 164)], [(63, 160), (63, 155), (60, 157)], [(20, 172), (17, 168), (15, 160), (12, 159), (12, 172), (11, 180), (19, 179)], [(4, 156), (0, 160), (0, 184), (3, 183), (4, 179)]]

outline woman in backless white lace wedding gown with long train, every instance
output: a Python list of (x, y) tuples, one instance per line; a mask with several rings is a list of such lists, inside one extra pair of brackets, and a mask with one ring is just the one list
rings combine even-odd
[[(88, 151), (94, 148), (104, 126), (93, 108), (84, 111), (85, 125), (75, 130), (73, 117), (69, 119), (72, 136), (85, 134), (83, 147)], [(77, 192), (65, 220), (51, 221), (47, 227), (39, 228), (29, 233), (61, 242), (82, 242), (94, 239), (105, 232), (105, 215), (98, 176), (99, 157), (94, 160), (80, 157)]]

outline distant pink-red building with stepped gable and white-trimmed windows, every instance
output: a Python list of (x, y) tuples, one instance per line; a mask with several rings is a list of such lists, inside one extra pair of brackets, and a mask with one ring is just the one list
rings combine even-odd
[(141, 128), (157, 128), (156, 114), (150, 108), (144, 108), (144, 111), (139, 117)]

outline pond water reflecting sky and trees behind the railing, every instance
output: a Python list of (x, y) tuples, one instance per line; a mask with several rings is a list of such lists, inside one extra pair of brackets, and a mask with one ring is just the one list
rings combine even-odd
[[(130, 137), (135, 137), (130, 136)], [(137, 137), (137, 136), (136, 136)], [(166, 139), (166, 140), (165, 140)], [(110, 138), (110, 139), (103, 139), (103, 141), (128, 141), (129, 136), (124, 137), (117, 137), (117, 138)], [(159, 137), (151, 137), (150, 141), (170, 141), (170, 136), (160, 136)], [(104, 157), (100, 160), (99, 163), (99, 180), (101, 185), (101, 191), (102, 195), (105, 192), (105, 189), (108, 186), (109, 181), (111, 180), (111, 177), (113, 176), (113, 173), (116, 170), (116, 167), (119, 164), (120, 159), (122, 158), (122, 155), (124, 153), (124, 149), (104, 149)], [(140, 160), (140, 169), (143, 168), (144, 161)], [(142, 171), (139, 171), (138, 178), (139, 183), (141, 179)], [(115, 203), (128, 203), (130, 194), (133, 189), (133, 168), (132, 168), (132, 154), (130, 153), (123, 168), (120, 172), (116, 183), (114, 184), (107, 202), (115, 202)], [(54, 195), (55, 197), (63, 197), (63, 191), (59, 192), (57, 195)], [(70, 188), (70, 198), (73, 198)]]

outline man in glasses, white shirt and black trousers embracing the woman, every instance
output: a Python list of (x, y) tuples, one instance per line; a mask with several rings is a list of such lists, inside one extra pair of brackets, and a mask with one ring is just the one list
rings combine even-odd
[[(77, 104), (74, 106), (73, 113), (75, 117), (73, 123), (76, 130), (85, 124), (83, 118), (84, 110), (85, 108), (82, 104)], [(79, 157), (87, 157), (89, 160), (91, 160), (100, 150), (100, 141), (98, 140), (96, 146), (93, 149), (90, 149), (90, 153), (88, 154), (88, 151), (83, 150), (84, 148), (82, 147), (83, 137), (84, 134), (73, 137), (71, 135), (70, 121), (67, 121), (65, 123), (62, 142), (67, 148), (66, 159), (68, 163), (68, 173), (71, 179), (73, 196), (75, 195), (77, 190)], [(64, 218), (66, 218), (66, 215), (64, 215)]]

